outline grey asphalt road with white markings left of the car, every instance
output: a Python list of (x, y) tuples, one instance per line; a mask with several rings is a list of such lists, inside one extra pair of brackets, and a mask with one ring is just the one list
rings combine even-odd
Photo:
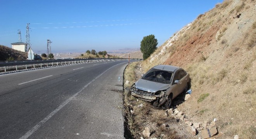
[(128, 61), (0, 75), (1, 139), (123, 139)]

